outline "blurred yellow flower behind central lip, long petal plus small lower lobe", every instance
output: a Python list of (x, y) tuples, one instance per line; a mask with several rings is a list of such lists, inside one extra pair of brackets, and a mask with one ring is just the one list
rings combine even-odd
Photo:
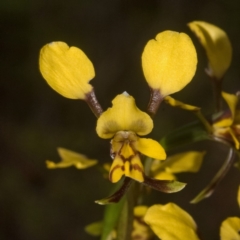
[(198, 172), (206, 152), (188, 151), (174, 154), (164, 162), (154, 161), (151, 172), (155, 179), (176, 180), (176, 173)]

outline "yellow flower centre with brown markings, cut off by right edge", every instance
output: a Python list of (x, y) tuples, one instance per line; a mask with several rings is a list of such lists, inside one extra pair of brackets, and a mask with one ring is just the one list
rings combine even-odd
[(226, 101), (229, 110), (223, 112), (218, 118), (214, 119), (213, 134), (216, 137), (223, 138), (227, 141), (233, 142), (236, 149), (239, 149), (240, 137), (240, 111), (238, 109), (239, 97), (238, 95), (222, 92), (222, 97)]

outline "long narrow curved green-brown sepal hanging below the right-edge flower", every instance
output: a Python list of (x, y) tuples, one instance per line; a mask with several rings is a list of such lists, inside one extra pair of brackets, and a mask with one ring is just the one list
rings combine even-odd
[(235, 154), (234, 149), (230, 148), (228, 152), (228, 156), (226, 160), (224, 161), (222, 167), (218, 170), (217, 174), (214, 176), (214, 178), (210, 181), (210, 183), (205, 187), (193, 200), (191, 200), (190, 203), (198, 203), (204, 198), (208, 198), (212, 195), (212, 193), (215, 191), (217, 185), (221, 182), (221, 180), (224, 178), (226, 173), (229, 171), (230, 167), (233, 164)]

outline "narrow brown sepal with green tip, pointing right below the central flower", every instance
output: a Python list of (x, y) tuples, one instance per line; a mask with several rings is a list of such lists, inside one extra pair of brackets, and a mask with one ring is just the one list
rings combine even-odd
[(181, 191), (187, 184), (175, 180), (158, 180), (144, 176), (144, 185), (160, 192), (175, 193)]

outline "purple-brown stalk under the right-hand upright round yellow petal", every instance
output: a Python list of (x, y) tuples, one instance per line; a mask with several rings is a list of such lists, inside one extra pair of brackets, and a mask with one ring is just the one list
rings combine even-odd
[(159, 89), (150, 88), (150, 92), (151, 92), (151, 95), (150, 95), (147, 111), (152, 117), (154, 117), (154, 115), (157, 113), (160, 103), (163, 100), (163, 96), (161, 95)]

